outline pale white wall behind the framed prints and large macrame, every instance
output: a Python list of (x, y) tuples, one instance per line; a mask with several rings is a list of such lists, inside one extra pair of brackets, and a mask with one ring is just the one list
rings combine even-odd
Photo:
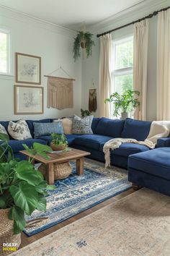
[[(11, 30), (12, 76), (0, 75), (0, 120), (43, 119), (80, 114), (81, 59), (73, 61), (73, 31), (45, 24), (21, 14), (0, 9), (0, 27)], [(20, 52), (42, 57), (42, 86), (44, 87), (44, 114), (14, 115), (14, 53)], [(62, 66), (76, 81), (73, 85), (73, 108), (59, 111), (47, 108), (47, 77)], [(66, 77), (62, 71), (55, 73)], [(23, 84), (24, 85), (24, 84)]]

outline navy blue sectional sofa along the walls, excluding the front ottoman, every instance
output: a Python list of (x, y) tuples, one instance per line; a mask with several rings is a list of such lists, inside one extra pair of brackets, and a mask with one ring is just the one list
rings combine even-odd
[[(33, 142), (40, 142), (42, 144), (50, 143), (50, 136), (42, 136), (34, 139), (34, 126), (33, 122), (52, 122), (53, 119), (42, 120), (26, 120), (30, 129), (32, 139), (27, 140), (11, 140), (11, 145), (14, 150), (14, 156), (16, 158), (23, 159), (24, 156), (19, 153), (19, 150), (23, 150), (22, 144), (25, 143), (28, 146), (32, 146)], [(0, 121), (6, 130), (9, 121)], [(104, 143), (112, 138), (134, 138), (136, 140), (145, 140), (148, 136), (148, 132), (151, 127), (151, 121), (138, 121), (135, 119), (106, 119), (106, 118), (94, 118), (91, 124), (91, 129), (94, 134), (92, 135), (66, 135), (68, 145), (72, 148), (78, 148), (80, 150), (86, 150), (91, 153), (89, 156), (97, 161), (104, 162), (104, 153), (102, 152)], [(170, 145), (170, 138), (162, 138), (158, 140), (157, 147), (167, 147)], [(138, 145), (133, 143), (124, 143), (116, 150), (111, 151), (111, 163), (115, 166), (122, 168), (128, 168), (128, 156), (135, 153), (151, 151), (144, 145)]]

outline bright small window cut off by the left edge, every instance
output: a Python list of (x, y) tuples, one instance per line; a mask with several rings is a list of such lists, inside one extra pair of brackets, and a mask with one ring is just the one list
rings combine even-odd
[(0, 28), (0, 74), (10, 74), (9, 30)]

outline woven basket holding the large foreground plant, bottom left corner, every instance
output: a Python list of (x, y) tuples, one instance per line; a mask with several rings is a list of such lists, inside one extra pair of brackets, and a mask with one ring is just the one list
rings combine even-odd
[(0, 210), (0, 255), (9, 255), (12, 251), (3, 251), (3, 243), (17, 243), (17, 249), (21, 244), (21, 233), (14, 234), (14, 221), (8, 218), (9, 209)]

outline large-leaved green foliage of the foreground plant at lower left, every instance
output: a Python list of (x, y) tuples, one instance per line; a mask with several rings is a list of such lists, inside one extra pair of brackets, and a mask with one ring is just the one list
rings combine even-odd
[[(14, 159), (9, 145), (9, 136), (0, 133), (0, 209), (9, 208), (9, 219), (14, 220), (14, 234), (19, 234), (25, 227), (24, 215), (30, 216), (34, 210), (46, 210), (46, 189), (48, 186), (40, 171), (32, 165), (34, 156), (29, 161)], [(48, 158), (46, 145), (35, 142), (32, 148), (23, 145), (32, 155)], [(7, 153), (7, 155), (6, 155)]]

